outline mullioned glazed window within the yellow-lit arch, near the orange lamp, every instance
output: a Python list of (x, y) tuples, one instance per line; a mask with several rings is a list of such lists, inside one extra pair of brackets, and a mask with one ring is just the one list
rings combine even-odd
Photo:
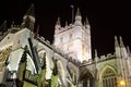
[(117, 76), (111, 69), (107, 69), (103, 75), (103, 87), (117, 87)]

